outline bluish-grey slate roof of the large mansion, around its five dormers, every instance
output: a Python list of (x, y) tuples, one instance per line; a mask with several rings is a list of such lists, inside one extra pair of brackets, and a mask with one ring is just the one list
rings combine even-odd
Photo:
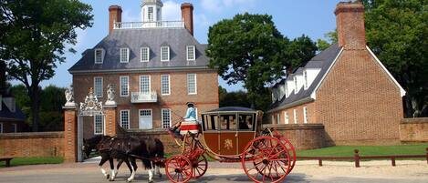
[[(141, 62), (142, 46), (150, 47), (150, 61)], [(161, 61), (161, 46), (170, 46), (170, 61)], [(186, 46), (195, 46), (195, 60), (187, 61)], [(120, 48), (130, 48), (129, 63), (120, 63)], [(104, 49), (102, 64), (95, 64), (94, 50)], [(115, 70), (156, 70), (165, 68), (207, 68), (206, 45), (198, 41), (185, 28), (116, 29), (99, 44), (85, 51), (70, 73)]]

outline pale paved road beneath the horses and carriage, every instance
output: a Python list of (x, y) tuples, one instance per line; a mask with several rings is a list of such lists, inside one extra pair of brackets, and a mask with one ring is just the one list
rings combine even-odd
[[(428, 182), (428, 165), (426, 161), (405, 161), (392, 168), (388, 162), (379, 165), (361, 163), (362, 168), (353, 168), (349, 162), (324, 162), (319, 168), (317, 162), (299, 162), (299, 165), (287, 177), (286, 182)], [(365, 164), (365, 165), (364, 165)], [(192, 182), (251, 182), (240, 169), (239, 164), (211, 163), (211, 168), (203, 178)], [(126, 168), (120, 169), (116, 182), (125, 182), (129, 175)], [(138, 170), (135, 182), (147, 182), (147, 172)], [(102, 178), (96, 164), (63, 164), (45, 166), (25, 166), (0, 168), (0, 182), (14, 183), (100, 183), (109, 182)], [(169, 182), (165, 176), (155, 178), (155, 182)]]

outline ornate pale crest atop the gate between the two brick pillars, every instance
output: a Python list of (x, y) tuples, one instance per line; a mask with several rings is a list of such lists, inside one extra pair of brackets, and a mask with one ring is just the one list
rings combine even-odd
[(89, 94), (85, 98), (85, 103), (80, 102), (80, 116), (95, 116), (102, 115), (102, 102), (98, 101), (97, 96), (94, 95), (92, 87), (89, 88)]

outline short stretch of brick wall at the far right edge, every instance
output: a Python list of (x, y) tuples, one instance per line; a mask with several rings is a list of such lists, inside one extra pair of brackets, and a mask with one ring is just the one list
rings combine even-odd
[(402, 119), (400, 139), (402, 142), (428, 142), (428, 117)]

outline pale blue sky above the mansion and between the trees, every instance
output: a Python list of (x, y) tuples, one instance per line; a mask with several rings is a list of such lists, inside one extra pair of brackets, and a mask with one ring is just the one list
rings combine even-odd
[[(73, 46), (78, 52), (67, 53), (66, 63), (58, 66), (56, 75), (42, 82), (42, 86), (71, 84), (72, 76), (68, 73), (68, 68), (78, 61), (83, 51), (95, 46), (108, 35), (110, 5), (122, 7), (122, 22), (141, 21), (141, 0), (80, 1), (92, 5), (94, 25), (86, 30), (78, 30), (78, 43)], [(324, 38), (325, 33), (336, 28), (333, 12), (339, 0), (163, 0), (162, 20), (180, 20), (180, 5), (185, 2), (194, 6), (194, 36), (200, 43), (207, 43), (210, 25), (245, 12), (272, 15), (277, 29), (290, 39), (302, 34), (314, 40)], [(221, 78), (219, 83), (228, 91), (243, 89), (242, 85), (228, 86)]]

